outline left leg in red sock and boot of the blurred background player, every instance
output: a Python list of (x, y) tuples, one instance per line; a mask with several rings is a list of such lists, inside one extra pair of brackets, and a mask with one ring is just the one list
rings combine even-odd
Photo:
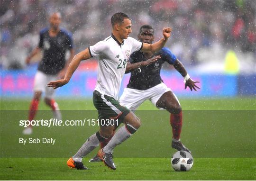
[[(37, 114), (38, 104), (41, 99), (41, 95), (42, 95), (41, 91), (35, 91), (29, 107), (29, 116), (28, 116), (29, 121), (33, 120)], [(33, 132), (32, 126), (28, 126), (22, 131), (24, 135), (31, 135), (32, 132)]]

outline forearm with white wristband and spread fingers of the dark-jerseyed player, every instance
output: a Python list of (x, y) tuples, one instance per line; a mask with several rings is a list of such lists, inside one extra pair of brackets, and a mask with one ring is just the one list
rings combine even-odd
[(185, 89), (187, 89), (187, 87), (190, 88), (190, 90), (195, 90), (197, 91), (197, 89), (200, 89), (200, 87), (198, 87), (196, 85), (196, 83), (199, 83), (199, 81), (193, 81), (189, 74), (187, 73), (185, 67), (183, 66), (183, 64), (178, 60), (176, 59), (176, 61), (174, 62), (174, 68), (180, 72), (180, 74), (184, 77), (184, 83), (185, 83)]

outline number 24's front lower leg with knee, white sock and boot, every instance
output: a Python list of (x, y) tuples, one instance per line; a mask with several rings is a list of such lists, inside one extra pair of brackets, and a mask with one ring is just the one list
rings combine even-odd
[(98, 152), (101, 160), (113, 170), (116, 170), (112, 155), (114, 148), (133, 135), (141, 125), (140, 119), (133, 112), (126, 115), (123, 123), (125, 125), (120, 127), (110, 142)]

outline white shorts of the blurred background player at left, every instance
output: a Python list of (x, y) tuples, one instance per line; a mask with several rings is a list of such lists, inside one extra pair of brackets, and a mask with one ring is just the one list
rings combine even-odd
[(37, 71), (34, 80), (34, 91), (41, 91), (46, 93), (46, 98), (53, 98), (55, 90), (52, 87), (47, 87), (46, 85), (50, 81), (55, 81), (57, 79), (56, 75), (47, 75), (44, 72)]

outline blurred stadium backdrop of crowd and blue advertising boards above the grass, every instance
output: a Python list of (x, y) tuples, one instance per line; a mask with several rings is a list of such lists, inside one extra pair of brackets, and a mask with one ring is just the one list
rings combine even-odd
[[(135, 38), (144, 24), (153, 25), (155, 39), (162, 36), (163, 27), (171, 26), (173, 33), (166, 46), (191, 77), (201, 81), (199, 92), (184, 90), (181, 75), (165, 64), (162, 78), (180, 98), (256, 95), (254, 0), (1, 0), (1, 98), (32, 97), (41, 57), (35, 57), (29, 66), (25, 58), (37, 46), (39, 31), (48, 25), (48, 15), (53, 11), (61, 12), (61, 26), (73, 33), (76, 53), (109, 36), (110, 18), (119, 11), (132, 19), (131, 36)], [(97, 60), (82, 62), (72, 81), (56, 95), (91, 99), (96, 80)], [(128, 80), (129, 74), (120, 93)]]

